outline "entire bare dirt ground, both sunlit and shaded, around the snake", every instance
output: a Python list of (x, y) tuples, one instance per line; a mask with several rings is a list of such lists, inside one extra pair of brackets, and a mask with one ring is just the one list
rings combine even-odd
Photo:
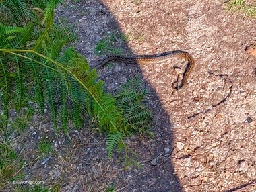
[[(112, 184), (115, 191), (256, 191), (256, 58), (245, 52), (255, 42), (256, 19), (205, 0), (67, 1), (57, 15), (75, 23), (75, 48), (91, 66), (100, 59), (96, 43), (118, 32), (129, 34), (120, 41), (124, 54), (186, 50), (196, 63), (187, 87), (173, 94), (180, 60), (99, 71), (108, 91), (135, 75), (150, 87), (156, 136), (125, 140), (141, 167), (124, 169), (118, 155), (108, 160), (104, 137), (85, 128), (71, 134), (70, 146), (64, 136), (54, 138), (55, 156), (45, 166), (33, 164), (28, 178), (62, 183), (62, 191), (104, 191)], [(40, 135), (47, 134), (46, 122)]]

